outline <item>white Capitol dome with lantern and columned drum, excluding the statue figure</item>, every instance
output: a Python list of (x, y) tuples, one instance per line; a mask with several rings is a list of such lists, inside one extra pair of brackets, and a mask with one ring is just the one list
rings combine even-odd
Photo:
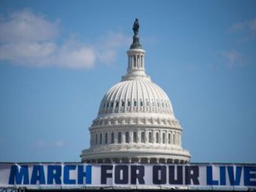
[(101, 100), (82, 162), (189, 162), (171, 101), (145, 73), (145, 51), (136, 33), (127, 56), (127, 74)]

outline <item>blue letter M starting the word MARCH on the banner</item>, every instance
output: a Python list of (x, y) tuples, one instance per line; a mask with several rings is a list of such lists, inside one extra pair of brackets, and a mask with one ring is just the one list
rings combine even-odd
[[(23, 182), (22, 182), (23, 181)], [(28, 185), (28, 165), (12, 165), (9, 185)]]

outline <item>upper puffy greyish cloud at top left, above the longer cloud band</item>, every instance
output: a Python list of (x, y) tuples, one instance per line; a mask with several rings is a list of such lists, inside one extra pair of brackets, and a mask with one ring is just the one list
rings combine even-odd
[(0, 41), (47, 41), (58, 36), (59, 22), (49, 22), (43, 15), (35, 15), (29, 9), (12, 12), (0, 23)]

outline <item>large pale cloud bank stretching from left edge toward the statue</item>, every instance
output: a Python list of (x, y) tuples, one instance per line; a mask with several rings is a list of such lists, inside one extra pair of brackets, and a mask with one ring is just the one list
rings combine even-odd
[(113, 62), (118, 49), (129, 41), (122, 33), (109, 32), (95, 44), (75, 38), (57, 44), (59, 25), (59, 20), (51, 22), (29, 9), (12, 12), (0, 21), (0, 61), (28, 67), (90, 69), (97, 61)]

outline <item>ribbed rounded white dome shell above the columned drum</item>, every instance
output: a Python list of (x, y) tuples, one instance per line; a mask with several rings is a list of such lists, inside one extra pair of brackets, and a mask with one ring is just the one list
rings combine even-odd
[(98, 115), (129, 112), (173, 115), (173, 107), (167, 94), (149, 79), (125, 80), (105, 94)]

